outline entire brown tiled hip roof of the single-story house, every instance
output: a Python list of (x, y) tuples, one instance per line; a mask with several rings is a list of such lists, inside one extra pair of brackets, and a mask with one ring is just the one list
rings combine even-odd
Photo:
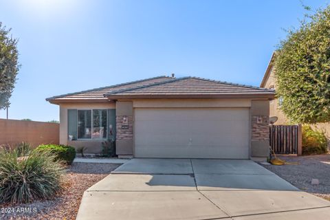
[(74, 102), (74, 101), (107, 101), (117, 98), (170, 98), (170, 97), (260, 97), (274, 98), (274, 91), (248, 85), (239, 85), (217, 80), (197, 77), (170, 78), (159, 76), (145, 80), (122, 83), (109, 87), (101, 87), (72, 94), (53, 96), (47, 101)]

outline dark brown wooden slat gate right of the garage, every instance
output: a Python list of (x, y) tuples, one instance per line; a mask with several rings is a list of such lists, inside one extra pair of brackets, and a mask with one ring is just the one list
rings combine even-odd
[(276, 154), (301, 155), (301, 125), (270, 125), (270, 146)]

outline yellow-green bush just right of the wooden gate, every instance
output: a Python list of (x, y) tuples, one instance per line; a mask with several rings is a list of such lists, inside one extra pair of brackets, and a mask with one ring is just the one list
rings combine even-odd
[(327, 137), (322, 131), (314, 131), (309, 125), (303, 125), (303, 155), (327, 152)]

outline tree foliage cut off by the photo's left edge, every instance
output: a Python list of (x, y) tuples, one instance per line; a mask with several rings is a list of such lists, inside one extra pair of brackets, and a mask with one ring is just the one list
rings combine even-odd
[(0, 109), (9, 106), (9, 98), (19, 72), (17, 39), (0, 22)]

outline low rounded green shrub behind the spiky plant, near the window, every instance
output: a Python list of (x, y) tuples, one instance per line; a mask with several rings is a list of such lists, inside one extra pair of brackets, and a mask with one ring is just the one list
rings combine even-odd
[(72, 146), (58, 144), (41, 144), (37, 148), (39, 151), (51, 151), (55, 153), (56, 159), (64, 160), (68, 165), (71, 165), (76, 157), (76, 150)]

